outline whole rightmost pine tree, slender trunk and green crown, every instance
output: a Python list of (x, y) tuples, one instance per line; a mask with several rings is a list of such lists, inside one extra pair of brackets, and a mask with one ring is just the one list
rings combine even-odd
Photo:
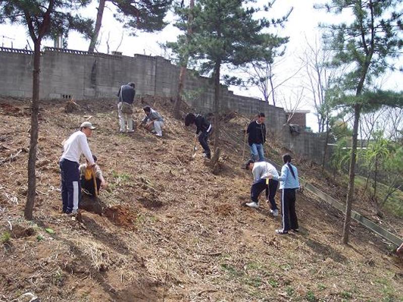
[(357, 136), (362, 110), (374, 110), (382, 103), (400, 106), (400, 94), (373, 92), (373, 80), (391, 67), (399, 56), (403, 42), (399, 32), (401, 23), (401, 1), (398, 0), (332, 0), (322, 6), (328, 12), (340, 14), (349, 11), (353, 15), (350, 24), (322, 25), (325, 38), (335, 54), (334, 66), (344, 66), (346, 72), (339, 81), (337, 105), (350, 108), (354, 113), (353, 140), (350, 154), (349, 186), (346, 200), (343, 243), (348, 243), (351, 209), (354, 200), (354, 179), (357, 154)]

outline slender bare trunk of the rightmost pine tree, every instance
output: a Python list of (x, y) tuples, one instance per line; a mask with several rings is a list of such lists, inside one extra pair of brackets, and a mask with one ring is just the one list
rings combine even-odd
[(346, 214), (343, 226), (343, 243), (349, 242), (350, 235), (350, 222), (351, 222), (351, 208), (354, 200), (354, 180), (355, 180), (355, 168), (357, 159), (357, 136), (358, 125), (360, 122), (361, 105), (356, 104), (354, 106), (354, 126), (353, 126), (353, 145), (351, 147), (350, 168), (349, 168), (349, 186), (347, 191), (346, 200)]

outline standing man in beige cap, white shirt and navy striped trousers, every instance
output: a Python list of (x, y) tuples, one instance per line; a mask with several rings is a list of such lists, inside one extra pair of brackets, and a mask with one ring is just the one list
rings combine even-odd
[(74, 132), (63, 143), (64, 152), (59, 163), (63, 213), (76, 214), (79, 208), (81, 197), (79, 163), (81, 155), (84, 154), (90, 167), (95, 164), (87, 141), (87, 137), (91, 137), (93, 129), (95, 127), (90, 122), (84, 122), (80, 126), (80, 131)]

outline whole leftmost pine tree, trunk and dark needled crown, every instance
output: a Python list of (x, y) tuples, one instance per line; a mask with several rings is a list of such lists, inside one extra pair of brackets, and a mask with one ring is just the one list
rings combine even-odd
[(34, 43), (34, 69), (32, 70), (32, 113), (28, 159), (28, 193), (24, 216), (32, 219), (36, 195), (36, 148), (38, 143), (39, 73), (41, 42), (46, 37), (77, 30), (87, 37), (92, 31), (92, 21), (75, 14), (90, 0), (0, 0), (0, 21), (23, 24)]

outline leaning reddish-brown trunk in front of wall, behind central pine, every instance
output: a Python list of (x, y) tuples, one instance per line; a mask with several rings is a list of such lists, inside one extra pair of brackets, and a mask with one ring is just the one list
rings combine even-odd
[(187, 37), (186, 37), (186, 50), (183, 54), (182, 62), (180, 65), (179, 72), (179, 83), (178, 83), (178, 91), (176, 93), (175, 107), (173, 115), (175, 118), (180, 119), (180, 104), (182, 103), (182, 90), (184, 86), (184, 82), (186, 79), (186, 69), (187, 62), (189, 61), (189, 51), (187, 49), (189, 45), (189, 39), (192, 34), (192, 23), (193, 23), (193, 8), (194, 8), (194, 0), (190, 0), (189, 3), (189, 15), (187, 16)]

